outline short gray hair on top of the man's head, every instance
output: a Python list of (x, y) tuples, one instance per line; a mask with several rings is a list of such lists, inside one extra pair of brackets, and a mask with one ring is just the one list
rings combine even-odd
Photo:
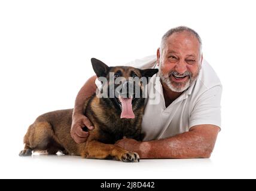
[(188, 32), (190, 33), (191, 35), (193, 35), (194, 37), (197, 38), (199, 44), (200, 44), (200, 53), (202, 53), (202, 40), (199, 36), (199, 34), (194, 31), (193, 29), (190, 29), (189, 27), (187, 26), (178, 26), (178, 27), (175, 27), (175, 28), (172, 28), (170, 30), (168, 30), (164, 35), (163, 37), (161, 38), (161, 44), (160, 44), (160, 50), (161, 50), (161, 53), (163, 52), (165, 46), (166, 46), (166, 39), (172, 35), (173, 33), (178, 33), (178, 32)]

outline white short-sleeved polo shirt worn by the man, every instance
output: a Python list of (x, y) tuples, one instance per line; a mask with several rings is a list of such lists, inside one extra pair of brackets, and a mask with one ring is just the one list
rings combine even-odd
[[(135, 60), (126, 66), (158, 68), (156, 56)], [(150, 104), (148, 99), (145, 103), (142, 119), (144, 141), (172, 137), (195, 125), (211, 124), (221, 127), (222, 86), (209, 63), (203, 60), (198, 79), (168, 107), (164, 103), (160, 78), (156, 78), (158, 75), (154, 75), (148, 83), (148, 93), (155, 91), (160, 100), (159, 104)]]

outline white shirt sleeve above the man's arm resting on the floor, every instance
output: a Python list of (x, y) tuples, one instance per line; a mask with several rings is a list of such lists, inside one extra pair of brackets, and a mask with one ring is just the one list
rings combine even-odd
[(199, 97), (190, 115), (189, 128), (203, 124), (221, 127), (221, 93), (222, 86), (217, 85)]

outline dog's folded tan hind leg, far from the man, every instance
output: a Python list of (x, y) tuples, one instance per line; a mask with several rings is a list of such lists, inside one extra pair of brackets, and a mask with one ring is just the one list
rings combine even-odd
[(29, 126), (28, 132), (24, 137), (25, 147), (20, 152), (20, 156), (31, 156), (33, 151), (47, 150), (49, 154), (56, 153), (61, 149), (56, 143), (56, 138), (51, 125), (47, 121), (35, 121)]

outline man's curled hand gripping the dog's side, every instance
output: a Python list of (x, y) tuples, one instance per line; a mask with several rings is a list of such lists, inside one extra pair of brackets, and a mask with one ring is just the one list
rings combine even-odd
[(77, 114), (73, 115), (71, 125), (71, 137), (76, 143), (84, 143), (87, 140), (89, 132), (83, 131), (82, 128), (87, 127), (89, 130), (93, 130), (92, 122), (85, 115)]

